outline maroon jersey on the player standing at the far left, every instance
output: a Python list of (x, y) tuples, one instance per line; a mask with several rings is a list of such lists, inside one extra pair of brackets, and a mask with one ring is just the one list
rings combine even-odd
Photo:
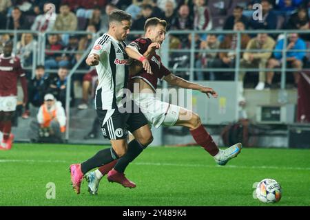
[(21, 62), (16, 56), (0, 55), (0, 96), (17, 96), (17, 80), (25, 77)]

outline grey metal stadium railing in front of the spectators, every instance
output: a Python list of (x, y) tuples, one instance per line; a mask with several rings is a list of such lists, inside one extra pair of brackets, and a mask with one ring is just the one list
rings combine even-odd
[[(10, 34), (13, 36), (13, 42), (14, 42), (14, 49), (13, 52), (16, 52), (16, 45), (17, 41), (19, 39), (19, 34), (24, 34), (24, 33), (31, 33), (37, 36), (37, 47), (33, 49), (32, 52), (32, 67), (24, 67), (25, 69), (28, 69), (32, 71), (32, 75), (34, 74), (34, 70), (36, 65), (44, 65), (45, 62), (45, 53), (46, 52), (53, 52), (53, 53), (60, 53), (60, 54), (76, 54), (79, 53), (81, 54), (81, 58), (79, 61), (75, 63), (75, 65), (70, 69), (70, 73), (68, 74), (68, 89), (67, 89), (67, 94), (66, 94), (66, 113), (68, 116), (68, 129), (66, 130), (65, 138), (68, 140), (69, 139), (69, 131), (70, 131), (70, 87), (71, 87), (71, 81), (72, 81), (72, 75), (73, 74), (84, 74), (84, 70), (79, 70), (79, 66), (81, 65), (82, 62), (85, 61), (85, 58), (87, 57), (87, 54), (89, 53), (92, 45), (94, 44), (94, 41), (100, 36), (100, 34), (103, 34), (102, 32), (98, 32), (96, 34), (90, 33), (90, 32), (84, 32), (84, 31), (78, 31), (78, 32), (35, 32), (35, 31), (30, 31), (30, 30), (0, 30), (0, 34)], [(241, 49), (241, 36), (242, 34), (260, 34), (260, 33), (267, 33), (267, 34), (283, 34), (284, 36), (284, 45), (287, 45), (287, 36), (290, 33), (298, 33), (298, 34), (310, 34), (310, 30), (245, 30), (245, 31), (230, 31), (230, 30), (216, 30), (216, 31), (191, 31), (191, 30), (171, 30), (167, 32), (166, 34), (166, 40), (164, 41), (160, 54), (162, 58), (162, 62), (165, 66), (169, 67), (169, 58), (171, 58), (170, 54), (172, 53), (189, 53), (189, 67), (176, 67), (174, 69), (175, 72), (187, 72), (189, 75), (189, 80), (194, 81), (194, 72), (197, 71), (204, 71), (204, 72), (234, 72), (234, 81), (238, 81), (238, 74), (240, 71), (244, 72), (258, 72), (258, 69), (255, 68), (240, 68), (240, 60), (241, 56), (240, 54), (242, 52), (268, 52), (267, 50), (242, 50)], [(66, 50), (59, 50), (57, 52), (55, 51), (49, 51), (45, 49), (45, 43), (47, 42), (47, 37), (49, 34), (77, 34), (77, 35), (87, 35), (87, 34), (92, 34), (92, 43), (90, 43), (89, 47), (87, 50), (83, 52), (68, 52)], [(132, 34), (139, 34), (143, 35), (143, 32), (136, 32), (132, 31), (130, 32), (130, 35)], [(172, 36), (180, 35), (180, 34), (191, 34), (192, 39), (195, 38), (196, 34), (216, 34), (217, 36), (220, 35), (225, 35), (225, 34), (236, 34), (237, 36), (237, 45), (236, 45), (236, 50), (197, 50), (195, 49), (195, 42), (191, 41), (190, 48), (188, 49), (170, 49), (169, 48), (169, 40), (170, 37)], [(310, 49), (307, 48), (306, 50), (290, 50), (291, 52), (307, 52), (310, 54)], [(218, 53), (218, 52), (235, 52), (236, 53), (236, 59), (235, 59), (235, 67), (234, 68), (196, 68), (194, 65), (195, 62), (195, 54), (198, 52), (206, 52), (206, 53)], [(270, 52), (270, 51), (269, 51)], [(272, 50), (272, 52), (276, 52), (276, 50)], [(289, 69), (287, 68), (287, 63), (284, 62), (286, 60), (287, 56), (287, 47), (283, 47), (282, 50), (277, 50), (277, 52), (282, 52), (282, 66), (281, 68), (274, 68), (274, 69), (260, 69), (260, 71), (268, 72), (268, 71), (273, 71), (273, 72), (281, 72), (280, 76), (280, 89), (284, 90), (285, 89), (285, 82), (286, 82), (286, 72), (296, 72), (298, 69)], [(87, 71), (87, 70), (86, 70)], [(298, 71), (301, 71), (300, 69)], [(310, 69), (302, 69), (302, 71), (310, 71)], [(47, 72), (56, 72), (56, 70), (47, 70)], [(167, 87), (167, 84), (164, 83), (164, 87)]]

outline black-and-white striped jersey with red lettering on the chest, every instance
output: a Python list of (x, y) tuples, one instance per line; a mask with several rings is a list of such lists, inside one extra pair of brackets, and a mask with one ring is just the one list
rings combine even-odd
[(126, 43), (117, 41), (110, 34), (103, 34), (94, 43), (90, 54), (98, 54), (96, 65), (99, 84), (96, 89), (96, 109), (116, 109), (125, 98), (123, 88), (127, 88), (130, 59), (125, 52)]

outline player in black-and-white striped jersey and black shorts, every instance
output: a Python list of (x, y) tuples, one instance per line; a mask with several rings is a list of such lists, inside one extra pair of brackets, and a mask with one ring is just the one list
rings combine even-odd
[[(92, 51), (86, 59), (87, 65), (96, 66), (99, 85), (96, 88), (96, 112), (99, 116), (101, 129), (105, 138), (110, 139), (111, 148), (105, 148), (81, 164), (70, 166), (72, 186), (80, 193), (83, 175), (92, 168), (108, 164), (123, 155), (136, 155), (152, 142), (152, 132), (147, 119), (138, 111), (135, 113), (134, 102), (130, 100), (130, 111), (127, 111), (128, 101), (125, 96), (129, 76), (130, 59), (141, 61), (150, 74), (149, 61), (138, 51), (125, 51), (125, 39), (130, 31), (131, 15), (122, 10), (114, 10), (109, 16), (109, 30), (96, 40)], [(126, 99), (127, 98), (127, 99)], [(125, 104), (123, 104), (123, 100)], [(127, 104), (127, 106), (125, 106)], [(135, 140), (127, 144), (127, 134), (130, 131)], [(123, 173), (114, 170), (110, 181), (115, 181), (126, 187), (134, 184), (126, 179)]]

